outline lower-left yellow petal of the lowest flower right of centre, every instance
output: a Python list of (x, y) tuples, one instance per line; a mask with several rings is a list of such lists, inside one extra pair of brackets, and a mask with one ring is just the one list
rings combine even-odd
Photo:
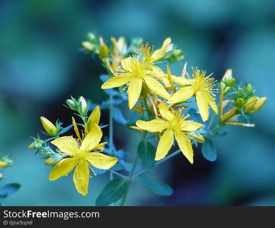
[(156, 152), (156, 157), (155, 160), (161, 160), (163, 159), (171, 149), (171, 146), (174, 141), (174, 132), (171, 129), (167, 129), (163, 135), (161, 136), (159, 142), (158, 142), (158, 147), (157, 147), (157, 152)]

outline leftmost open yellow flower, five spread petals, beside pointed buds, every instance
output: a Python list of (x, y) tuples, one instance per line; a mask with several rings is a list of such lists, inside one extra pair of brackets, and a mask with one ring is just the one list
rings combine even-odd
[(83, 139), (81, 146), (72, 136), (63, 136), (52, 141), (53, 145), (70, 157), (61, 160), (51, 170), (49, 180), (54, 181), (61, 176), (66, 176), (76, 167), (73, 174), (73, 182), (78, 192), (85, 196), (88, 192), (89, 168), (92, 171), (92, 166), (98, 169), (109, 169), (118, 161), (117, 158), (106, 156), (100, 152), (90, 152), (94, 151), (98, 146), (102, 146), (102, 144), (98, 145), (101, 137), (101, 129), (98, 125), (93, 124), (91, 131)]

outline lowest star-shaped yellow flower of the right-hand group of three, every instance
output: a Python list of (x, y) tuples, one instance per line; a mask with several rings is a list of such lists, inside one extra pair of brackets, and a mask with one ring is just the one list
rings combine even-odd
[(138, 120), (136, 122), (136, 125), (140, 129), (150, 132), (158, 132), (166, 129), (159, 140), (155, 160), (161, 160), (167, 155), (172, 147), (175, 136), (183, 155), (192, 164), (193, 150), (191, 142), (187, 137), (187, 132), (197, 130), (203, 125), (194, 121), (185, 120), (188, 116), (182, 115), (182, 110), (171, 113), (164, 103), (160, 103), (158, 108), (163, 120), (155, 119), (148, 122)]

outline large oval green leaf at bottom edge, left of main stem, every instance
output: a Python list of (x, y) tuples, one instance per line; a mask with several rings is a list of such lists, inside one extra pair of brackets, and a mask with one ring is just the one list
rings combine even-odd
[(129, 181), (117, 177), (110, 181), (102, 190), (96, 200), (96, 206), (108, 206), (118, 201), (129, 187)]

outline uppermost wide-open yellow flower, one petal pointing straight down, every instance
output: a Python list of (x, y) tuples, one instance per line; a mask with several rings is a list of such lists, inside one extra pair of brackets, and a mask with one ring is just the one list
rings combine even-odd
[(153, 64), (145, 62), (145, 59), (139, 57), (128, 57), (121, 60), (121, 65), (124, 73), (119, 73), (118, 76), (111, 77), (107, 82), (103, 83), (102, 89), (110, 89), (120, 87), (128, 83), (128, 101), (129, 108), (138, 101), (141, 93), (142, 85), (145, 83), (148, 88), (159, 96), (170, 99), (170, 95), (154, 77), (158, 77), (158, 72), (152, 70)]

